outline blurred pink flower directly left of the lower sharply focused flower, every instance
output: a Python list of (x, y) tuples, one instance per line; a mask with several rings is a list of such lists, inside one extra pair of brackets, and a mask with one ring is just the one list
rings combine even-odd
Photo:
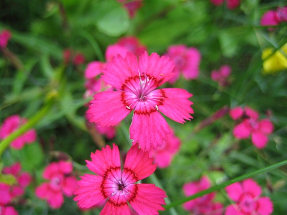
[(71, 197), (76, 189), (77, 179), (70, 176), (73, 170), (71, 162), (50, 163), (44, 170), (43, 178), (49, 180), (36, 188), (36, 196), (46, 199), (52, 208), (59, 208), (64, 202), (63, 193)]

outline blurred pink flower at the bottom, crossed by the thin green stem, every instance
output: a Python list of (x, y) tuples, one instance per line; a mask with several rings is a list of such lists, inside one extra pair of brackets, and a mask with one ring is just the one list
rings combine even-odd
[[(186, 196), (192, 196), (195, 193), (207, 189), (211, 186), (209, 179), (203, 176), (199, 181), (190, 182), (183, 185), (183, 191)], [(223, 206), (220, 203), (212, 202), (215, 193), (209, 193), (202, 197), (188, 201), (183, 204), (183, 208), (192, 212), (192, 214), (222, 214)]]

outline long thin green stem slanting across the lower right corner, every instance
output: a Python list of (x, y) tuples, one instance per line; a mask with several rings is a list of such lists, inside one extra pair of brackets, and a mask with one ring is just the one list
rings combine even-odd
[(287, 160), (275, 163), (273, 165), (267, 166), (267, 167), (262, 168), (262, 169), (258, 169), (256, 171), (253, 171), (252, 173), (247, 173), (247, 174), (244, 174), (242, 176), (238, 176), (238, 177), (236, 177), (234, 179), (231, 179), (229, 181), (223, 182), (221, 184), (214, 185), (214, 186), (212, 186), (212, 187), (210, 187), (208, 189), (205, 189), (205, 190), (202, 190), (200, 192), (195, 193), (195, 195), (192, 195), (192, 196), (180, 199), (178, 201), (174, 201), (171, 204), (165, 205), (164, 207), (166, 209), (170, 209), (170, 208), (172, 208), (174, 206), (180, 205), (182, 203), (188, 202), (188, 201), (196, 199), (198, 197), (202, 197), (204, 195), (207, 195), (208, 193), (211, 193), (211, 192), (214, 192), (216, 190), (219, 190), (219, 189), (222, 189), (224, 187), (227, 187), (228, 185), (231, 185), (233, 183), (242, 181), (244, 179), (252, 178), (252, 177), (254, 177), (254, 176), (256, 176), (256, 175), (258, 175), (260, 173), (265, 173), (266, 171), (271, 171), (271, 170), (279, 168), (279, 167), (281, 167), (283, 165), (287, 165)]

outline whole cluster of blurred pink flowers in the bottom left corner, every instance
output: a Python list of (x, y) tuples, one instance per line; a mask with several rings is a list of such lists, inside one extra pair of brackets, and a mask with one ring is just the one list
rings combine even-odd
[(31, 183), (32, 177), (29, 173), (21, 171), (20, 163), (14, 163), (11, 166), (3, 168), (3, 174), (12, 175), (16, 182), (12, 185), (0, 183), (0, 214), (15, 215), (18, 212), (10, 203), (16, 198), (22, 196), (25, 188)]

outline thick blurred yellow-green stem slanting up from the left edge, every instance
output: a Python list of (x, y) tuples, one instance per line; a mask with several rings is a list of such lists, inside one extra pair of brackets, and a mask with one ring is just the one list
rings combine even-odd
[(29, 119), (27, 123), (20, 126), (15, 132), (13, 132), (7, 138), (5, 138), (3, 141), (0, 142), (0, 158), (4, 153), (5, 149), (10, 145), (10, 143), (13, 140), (15, 140), (20, 135), (26, 133), (30, 128), (32, 128), (40, 119), (42, 119), (47, 114), (53, 103), (51, 100), (52, 98), (50, 98), (47, 101), (46, 105), (42, 107), (42, 109), (40, 109), (31, 119)]

